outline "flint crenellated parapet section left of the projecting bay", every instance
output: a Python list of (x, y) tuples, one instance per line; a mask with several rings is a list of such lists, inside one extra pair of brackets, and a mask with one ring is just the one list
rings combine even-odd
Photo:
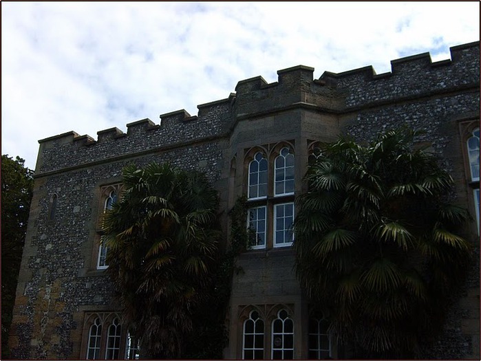
[(127, 124), (127, 133), (113, 127), (90, 135), (74, 131), (39, 140), (36, 175), (95, 164), (115, 158), (135, 157), (145, 151), (162, 151), (182, 144), (202, 142), (226, 133), (231, 122), (233, 94), (224, 100), (197, 106), (197, 116), (184, 109), (160, 116), (160, 124), (142, 119)]

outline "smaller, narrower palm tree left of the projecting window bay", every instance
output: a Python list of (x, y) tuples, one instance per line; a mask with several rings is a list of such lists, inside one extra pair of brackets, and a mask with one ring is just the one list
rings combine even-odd
[(103, 227), (107, 272), (141, 352), (179, 357), (211, 282), (217, 192), (201, 173), (170, 164), (129, 165), (122, 174), (122, 199)]

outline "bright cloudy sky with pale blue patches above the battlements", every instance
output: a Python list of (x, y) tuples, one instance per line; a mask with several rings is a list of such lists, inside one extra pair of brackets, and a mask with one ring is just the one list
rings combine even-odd
[(478, 1), (1, 2), (1, 153), (228, 98), (296, 65), (346, 72), (480, 39)]

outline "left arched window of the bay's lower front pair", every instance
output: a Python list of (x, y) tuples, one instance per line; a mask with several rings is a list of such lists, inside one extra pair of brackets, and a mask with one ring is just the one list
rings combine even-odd
[(259, 312), (250, 311), (249, 318), (244, 321), (244, 337), (242, 341), (243, 360), (261, 360), (264, 358), (264, 321)]

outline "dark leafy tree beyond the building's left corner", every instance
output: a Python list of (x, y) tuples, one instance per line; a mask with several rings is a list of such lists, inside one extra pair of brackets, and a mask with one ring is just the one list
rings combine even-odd
[(1, 156), (1, 356), (9, 357), (8, 332), (32, 201), (33, 171), (25, 160)]

